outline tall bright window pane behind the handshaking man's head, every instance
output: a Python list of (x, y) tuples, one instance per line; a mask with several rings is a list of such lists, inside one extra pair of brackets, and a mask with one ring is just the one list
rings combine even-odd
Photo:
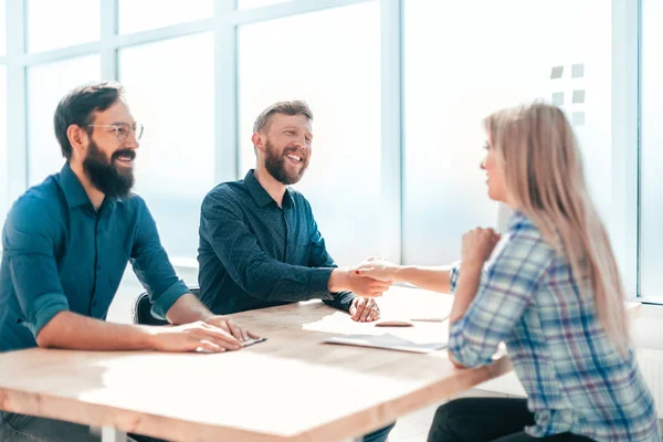
[(295, 188), (344, 265), (379, 253), (379, 3), (369, 2), (239, 30), (240, 173), (255, 165), (255, 117), (276, 101), (306, 101), (314, 155)]

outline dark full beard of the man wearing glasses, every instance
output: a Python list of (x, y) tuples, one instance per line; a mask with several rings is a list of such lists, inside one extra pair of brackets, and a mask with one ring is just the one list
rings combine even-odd
[(134, 187), (134, 169), (127, 167), (123, 168), (120, 172), (115, 167), (116, 158), (122, 155), (128, 156), (130, 159), (136, 157), (133, 149), (120, 149), (116, 150), (108, 161), (96, 143), (91, 141), (87, 156), (83, 160), (83, 170), (90, 178), (90, 182), (107, 198), (125, 198)]

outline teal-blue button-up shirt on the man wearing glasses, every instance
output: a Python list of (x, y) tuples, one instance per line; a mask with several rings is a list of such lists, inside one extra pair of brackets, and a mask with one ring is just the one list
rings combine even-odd
[(13, 204), (2, 248), (0, 351), (35, 347), (39, 332), (62, 311), (105, 319), (128, 261), (157, 316), (188, 292), (145, 201), (106, 198), (95, 211), (69, 165)]

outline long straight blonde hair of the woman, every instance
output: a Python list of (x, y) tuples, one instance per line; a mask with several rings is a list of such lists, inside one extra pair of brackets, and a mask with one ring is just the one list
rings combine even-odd
[(581, 295), (593, 294), (601, 325), (625, 354), (630, 338), (624, 291), (566, 115), (536, 102), (498, 110), (484, 125), (517, 209), (567, 256)]

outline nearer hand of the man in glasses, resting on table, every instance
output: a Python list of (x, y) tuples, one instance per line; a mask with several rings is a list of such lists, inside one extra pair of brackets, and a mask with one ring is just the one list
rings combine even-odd
[(242, 348), (229, 332), (202, 320), (170, 327), (151, 327), (150, 332), (150, 347), (158, 351), (222, 352)]

